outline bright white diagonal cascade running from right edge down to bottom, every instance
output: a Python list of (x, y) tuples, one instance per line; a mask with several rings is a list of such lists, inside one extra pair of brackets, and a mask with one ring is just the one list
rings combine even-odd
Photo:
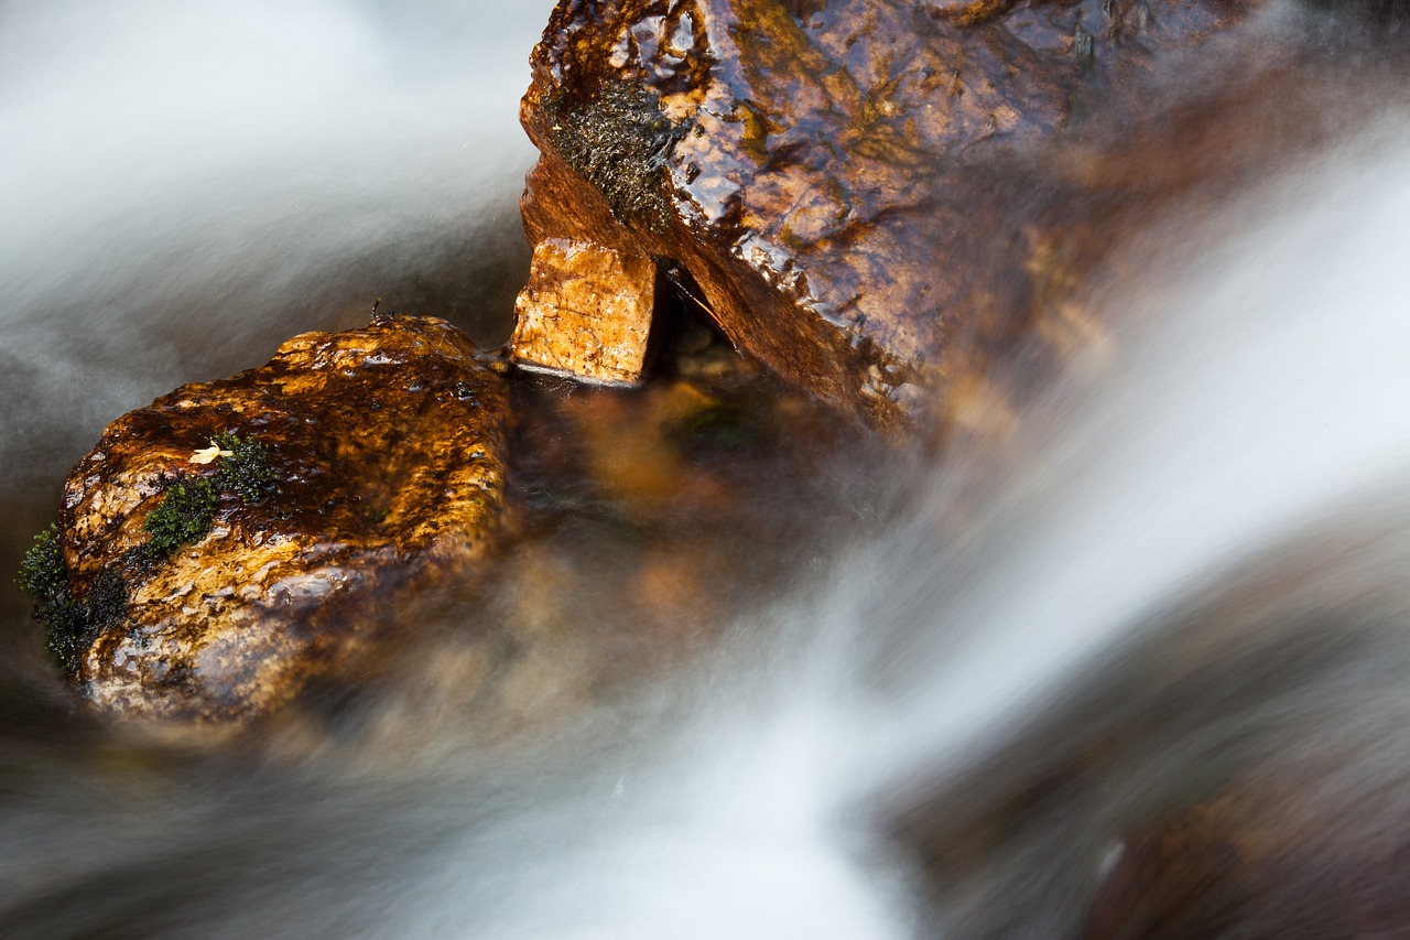
[[(1392, 590), (1406, 617), (1407, 147), (1392, 116), (1231, 207), (1248, 220), (1237, 237), (1166, 247), (1153, 265), (1170, 279), (1101, 296), (1144, 311), (1117, 361), (1026, 416), (1021, 466), (957, 545), (939, 535), (963, 511), (950, 469), (912, 531), (845, 559), (833, 590), (785, 614), (799, 634), (821, 621), (822, 648), (764, 668), (776, 690), (747, 707), (702, 711), (688, 755), (658, 771), (670, 810), (633, 814), (574, 860), (561, 900), (594, 929), (563, 936), (911, 936), (904, 864), (869, 840), (864, 807), (967, 768), (1145, 618), (1193, 610), (1269, 546), (1276, 570), (1361, 532), (1368, 507), (1372, 548), (1320, 559), (1321, 594), (1303, 604), (1338, 584)], [(1231, 632), (1214, 648), (1282, 639)], [(1389, 655), (1404, 662), (1403, 645)], [(558, 899), (539, 885), (527, 908), (540, 891)]]

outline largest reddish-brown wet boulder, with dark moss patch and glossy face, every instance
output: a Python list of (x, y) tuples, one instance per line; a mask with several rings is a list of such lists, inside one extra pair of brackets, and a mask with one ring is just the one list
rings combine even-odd
[(680, 265), (749, 356), (908, 428), (1024, 315), (987, 291), (1031, 277), (988, 258), (1025, 199), (974, 181), (1252, 6), (564, 1), (523, 100), (526, 231)]

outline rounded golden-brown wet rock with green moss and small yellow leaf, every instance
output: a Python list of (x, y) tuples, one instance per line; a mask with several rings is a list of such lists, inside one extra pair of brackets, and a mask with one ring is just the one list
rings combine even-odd
[(183, 385), (69, 476), (51, 648), (103, 710), (268, 711), (358, 662), (407, 589), (485, 559), (506, 425), (503, 378), (439, 319), (306, 333)]

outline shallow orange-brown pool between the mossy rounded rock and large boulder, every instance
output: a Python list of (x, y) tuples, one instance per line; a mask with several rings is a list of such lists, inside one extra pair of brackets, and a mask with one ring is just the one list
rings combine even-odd
[(477, 759), (561, 741), (526, 731), (694, 687), (742, 618), (774, 629), (760, 611), (811, 590), (839, 538), (891, 518), (893, 449), (859, 446), (712, 330), (661, 326), (640, 387), (510, 382), (503, 550), (416, 611), (415, 634), (350, 694), (281, 710), (281, 749), (385, 775), (416, 748), (443, 754), (447, 735), (472, 737)]

